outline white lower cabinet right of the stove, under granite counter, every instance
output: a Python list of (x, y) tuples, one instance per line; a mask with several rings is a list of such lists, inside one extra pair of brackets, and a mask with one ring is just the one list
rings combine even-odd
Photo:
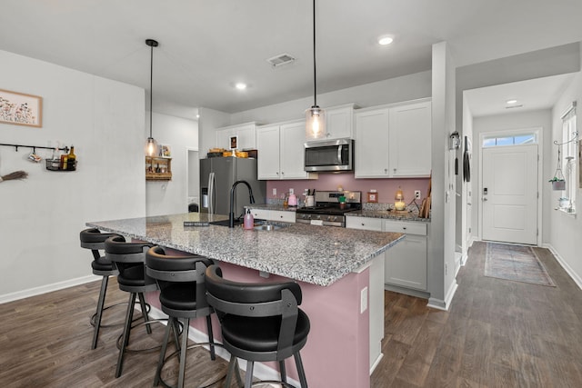
[(426, 291), (426, 223), (346, 216), (346, 227), (406, 234), (384, 253), (384, 282)]

